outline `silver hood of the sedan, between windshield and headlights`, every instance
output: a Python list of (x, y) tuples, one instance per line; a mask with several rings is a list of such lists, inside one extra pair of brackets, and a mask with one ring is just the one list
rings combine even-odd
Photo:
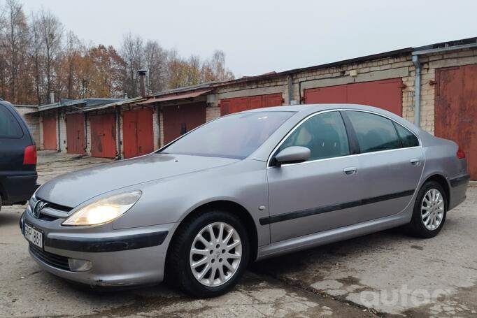
[(80, 203), (108, 191), (225, 166), (236, 161), (238, 159), (182, 154), (148, 154), (143, 157), (66, 173), (46, 182), (38, 189), (36, 197), (74, 208)]

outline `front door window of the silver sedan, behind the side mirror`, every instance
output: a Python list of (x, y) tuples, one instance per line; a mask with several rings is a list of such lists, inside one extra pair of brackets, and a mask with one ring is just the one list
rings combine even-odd
[(309, 118), (288, 136), (278, 152), (291, 146), (310, 149), (309, 160), (350, 154), (345, 125), (338, 112), (322, 113)]

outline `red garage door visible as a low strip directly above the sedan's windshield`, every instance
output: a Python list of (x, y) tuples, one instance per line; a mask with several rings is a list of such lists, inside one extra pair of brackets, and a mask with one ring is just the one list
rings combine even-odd
[(220, 115), (223, 116), (255, 108), (281, 106), (282, 103), (281, 93), (222, 99), (220, 101)]

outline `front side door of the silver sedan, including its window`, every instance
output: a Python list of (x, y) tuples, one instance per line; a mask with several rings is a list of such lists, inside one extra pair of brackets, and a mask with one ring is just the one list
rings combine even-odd
[(290, 146), (311, 150), (308, 161), (267, 168), (271, 241), (355, 224), (362, 198), (359, 159), (350, 156), (338, 111), (318, 113), (294, 129), (276, 153)]

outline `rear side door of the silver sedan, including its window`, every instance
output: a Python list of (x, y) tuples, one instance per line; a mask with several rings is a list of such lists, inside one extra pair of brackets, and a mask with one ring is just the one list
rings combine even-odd
[(359, 145), (359, 180), (363, 191), (357, 222), (387, 217), (411, 201), (424, 167), (418, 138), (381, 115), (347, 110)]

